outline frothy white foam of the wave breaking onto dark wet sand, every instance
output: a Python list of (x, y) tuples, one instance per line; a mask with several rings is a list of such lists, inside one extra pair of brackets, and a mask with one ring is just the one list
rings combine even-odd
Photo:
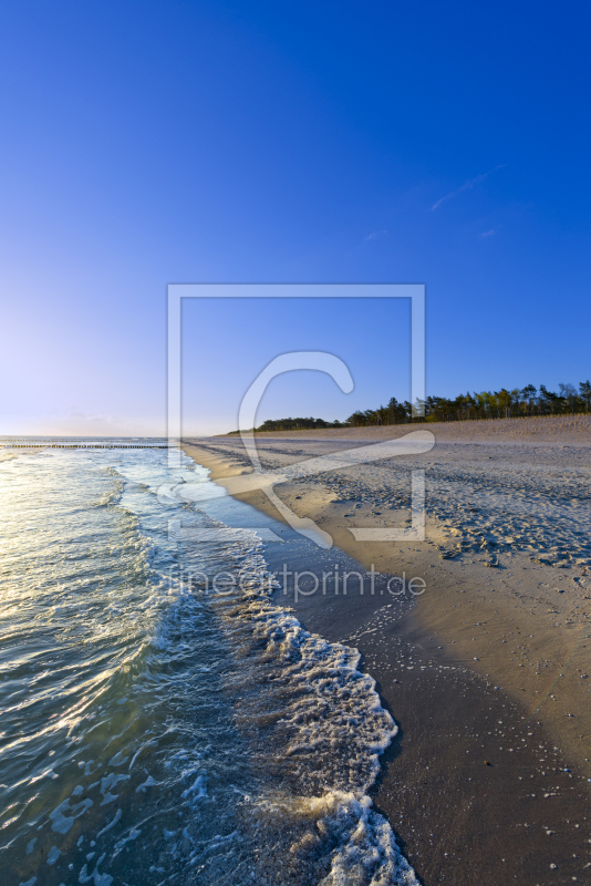
[[(367, 795), (397, 732), (375, 681), (359, 670), (357, 650), (311, 635), (273, 604), (256, 536), (226, 545), (240, 589), (211, 606), (240, 661), (227, 686), (257, 772), (257, 838), (322, 886), (417, 884)], [(190, 563), (189, 545), (183, 556)], [(292, 863), (283, 865), (272, 874), (259, 862), (258, 882), (291, 883)]]

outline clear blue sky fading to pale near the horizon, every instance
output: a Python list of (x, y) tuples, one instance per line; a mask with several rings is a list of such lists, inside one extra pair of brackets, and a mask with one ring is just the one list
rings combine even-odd
[[(162, 433), (168, 282), (424, 282), (427, 390), (591, 375), (583, 4), (9, 2), (4, 433)], [(402, 306), (186, 311), (185, 430), (408, 394)], [(388, 312), (390, 311), (390, 312)]]

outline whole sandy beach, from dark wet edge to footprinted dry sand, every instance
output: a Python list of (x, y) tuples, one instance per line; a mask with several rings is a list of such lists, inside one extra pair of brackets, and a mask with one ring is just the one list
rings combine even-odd
[[(412, 607), (352, 593), (292, 605), (308, 629), (359, 648), (400, 725), (374, 802), (425, 884), (589, 883), (591, 419), (423, 427), (429, 452), (274, 492), (363, 567), (419, 577), (424, 593)], [(281, 470), (412, 430), (257, 445), (262, 467)], [(220, 483), (252, 471), (238, 436), (184, 449)], [(411, 525), (413, 468), (425, 471), (425, 540), (355, 540), (351, 527)], [(281, 518), (260, 490), (241, 497)]]

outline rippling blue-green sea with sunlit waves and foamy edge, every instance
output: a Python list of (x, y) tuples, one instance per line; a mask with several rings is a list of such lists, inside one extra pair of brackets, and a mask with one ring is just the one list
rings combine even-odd
[(33, 443), (0, 441), (2, 883), (418, 884), (371, 800), (396, 725), (278, 593), (283, 529), (165, 441)]

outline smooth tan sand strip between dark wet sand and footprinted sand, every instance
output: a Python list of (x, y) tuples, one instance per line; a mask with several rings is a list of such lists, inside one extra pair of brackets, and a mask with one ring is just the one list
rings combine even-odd
[[(187, 454), (191, 454), (189, 450), (198, 452), (199, 457), (196, 454), (194, 457), (211, 472), (214, 481), (245, 473), (246, 460), (236, 459), (239, 453), (220, 455), (211, 452), (218, 440), (221, 439), (210, 439), (207, 443), (204, 441), (203, 446), (197, 447), (185, 444), (184, 450)], [(237, 442), (240, 444), (240, 441)], [(428, 454), (425, 457), (433, 459)], [(525, 703), (528, 711), (539, 709), (538, 719), (545, 720), (545, 725), (556, 733), (554, 740), (568, 751), (573, 763), (583, 767), (585, 776), (591, 779), (591, 763), (587, 760), (591, 756), (591, 670), (588, 670), (591, 668), (591, 618), (581, 617), (585, 610), (587, 615), (591, 612), (591, 559), (577, 570), (578, 574), (573, 577), (577, 585), (572, 587), (572, 577), (566, 570), (557, 570), (543, 562), (532, 563), (531, 557), (519, 552), (507, 552), (507, 559), (501, 568), (490, 568), (488, 560), (478, 562), (456, 556), (447, 558), (457, 529), (449, 529), (428, 516), (425, 543), (356, 542), (345, 525), (350, 515), (344, 512), (350, 511), (350, 499), (345, 498), (343, 504), (335, 502), (332, 494), (320, 488), (320, 483), (314, 480), (281, 484), (279, 490), (281, 499), (294, 513), (299, 516), (314, 515), (317, 524), (332, 536), (336, 547), (365, 568), (369, 569), (373, 564), (377, 571), (392, 575), (404, 571), (407, 579), (413, 576), (424, 577), (425, 580), (431, 579), (431, 576), (436, 578), (436, 593), (416, 598), (413, 618), (417, 627), (421, 626), (426, 635), (437, 635), (439, 642), (448, 648), (449, 653), (454, 653), (454, 658), (470, 662), (469, 667), (480, 676), (489, 674), (516, 701)], [(236, 497), (268, 516), (284, 522), (261, 491)], [(452, 610), (458, 607), (456, 597), (463, 591), (470, 594), (473, 584), (479, 590), (469, 598), (469, 606), (479, 615), (475, 615), (469, 624), (464, 625), (458, 622)], [(540, 590), (540, 585), (548, 587)], [(550, 587), (551, 585), (557, 587)], [(492, 586), (494, 597), (486, 593), (489, 586)], [(561, 586), (567, 587), (569, 597), (573, 591), (577, 593), (576, 604), (563, 596), (566, 591)], [(578, 606), (582, 612), (576, 615), (572, 606)], [(536, 611), (532, 612), (532, 609)], [(531, 636), (533, 619), (536, 627)], [(475, 627), (485, 629), (477, 631)], [(527, 649), (519, 653), (514, 650), (514, 646), (522, 643), (509, 642), (509, 638), (512, 636), (515, 640), (518, 633), (523, 639), (533, 641), (528, 642)], [(456, 649), (452, 650), (452, 646)], [(552, 652), (551, 658), (548, 658), (549, 651)], [(531, 664), (526, 666), (521, 672), (519, 664), (522, 661), (518, 662), (517, 668), (514, 667), (516, 656), (527, 658), (530, 662), (543, 659), (547, 667), (537, 669), (543, 672), (543, 677), (535, 678), (530, 673)], [(569, 671), (564, 670), (567, 661)], [(579, 673), (589, 673), (590, 679), (582, 681)], [(562, 682), (560, 692), (552, 691), (556, 701), (550, 705), (548, 688), (556, 678)], [(579, 712), (579, 717), (570, 718), (569, 713), (574, 711)], [(579, 723), (580, 717), (583, 718), (582, 727)]]

